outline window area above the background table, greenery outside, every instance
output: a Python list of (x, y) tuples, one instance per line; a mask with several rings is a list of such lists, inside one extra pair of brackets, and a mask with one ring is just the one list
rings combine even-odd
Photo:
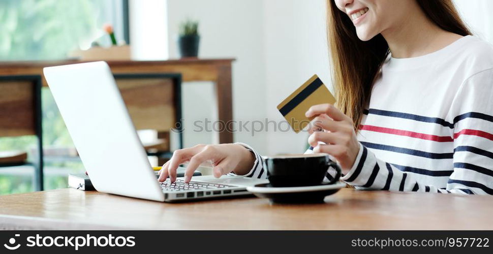
[(104, 23), (114, 25), (117, 40), (128, 41), (126, 6), (122, 0), (2, 0), (0, 60), (64, 59), (96, 40), (108, 45)]

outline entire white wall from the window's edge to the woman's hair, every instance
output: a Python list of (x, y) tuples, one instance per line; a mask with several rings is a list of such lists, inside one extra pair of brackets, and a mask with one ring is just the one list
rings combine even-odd
[[(167, 27), (162, 28), (167, 2)], [(137, 10), (135, 10), (137, 9)], [(146, 0), (131, 2), (132, 44), (139, 59), (151, 58), (167, 34), (169, 58), (177, 58), (179, 22), (200, 22), (201, 58), (235, 57), (233, 65), (233, 118), (236, 121), (282, 121), (276, 106), (305, 80), (318, 74), (330, 80), (325, 37), (324, 0)], [(143, 21), (137, 21), (137, 18)], [(139, 22), (139, 23), (136, 23)], [(158, 22), (158, 23), (156, 23)], [(146, 30), (139, 30), (146, 26)], [(144, 36), (140, 36), (144, 34)], [(161, 45), (166, 45), (162, 43)], [(331, 88), (330, 88), (331, 89)], [(193, 132), (193, 121), (217, 119), (214, 90), (209, 83), (183, 85), (184, 145), (213, 142), (210, 133)], [(307, 135), (294, 132), (237, 132), (235, 142), (249, 143), (262, 154), (299, 153)]]

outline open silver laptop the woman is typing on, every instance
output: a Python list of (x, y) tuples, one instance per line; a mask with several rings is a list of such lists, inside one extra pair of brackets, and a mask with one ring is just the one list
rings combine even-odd
[(195, 176), (159, 183), (104, 61), (49, 67), (44, 75), (91, 182), (100, 192), (175, 202), (249, 195), (264, 179)]

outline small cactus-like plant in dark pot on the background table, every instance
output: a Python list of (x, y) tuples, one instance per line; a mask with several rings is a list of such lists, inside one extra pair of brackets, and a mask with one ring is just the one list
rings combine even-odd
[(200, 36), (198, 27), (199, 22), (190, 19), (180, 24), (178, 48), (182, 58), (197, 57), (199, 55)]

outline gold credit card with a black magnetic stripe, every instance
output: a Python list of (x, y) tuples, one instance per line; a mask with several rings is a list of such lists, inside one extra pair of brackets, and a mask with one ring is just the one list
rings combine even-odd
[(313, 120), (313, 117), (305, 116), (306, 111), (314, 105), (325, 103), (334, 104), (335, 98), (315, 74), (279, 104), (278, 110), (289, 122), (293, 131), (298, 133)]

